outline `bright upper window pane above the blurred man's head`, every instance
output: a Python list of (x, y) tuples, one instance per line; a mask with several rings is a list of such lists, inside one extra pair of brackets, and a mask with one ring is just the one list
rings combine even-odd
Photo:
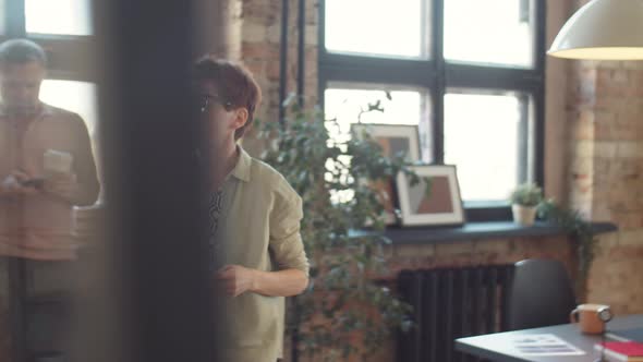
[(25, 0), (27, 33), (92, 35), (90, 0)]

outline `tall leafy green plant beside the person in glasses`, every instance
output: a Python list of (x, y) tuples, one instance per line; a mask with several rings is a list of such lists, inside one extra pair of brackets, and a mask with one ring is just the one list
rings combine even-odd
[[(284, 122), (262, 122), (259, 137), (269, 144), (263, 159), (282, 172), (304, 203), (301, 232), (311, 282), (306, 293), (291, 300), (287, 315), (292, 359), (305, 352), (316, 361), (368, 360), (411, 322), (410, 306), (379, 279), (388, 275), (386, 214), (373, 183), (360, 180), (398, 172), (415, 182), (420, 178), (403, 157), (385, 157), (373, 138), (332, 138), (329, 130), (339, 124), (318, 107), (302, 109), (292, 101), (286, 107)], [(380, 108), (369, 105), (365, 111)]]

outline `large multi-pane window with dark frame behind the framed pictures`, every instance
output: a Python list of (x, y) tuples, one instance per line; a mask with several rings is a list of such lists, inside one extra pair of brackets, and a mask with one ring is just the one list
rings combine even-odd
[(544, 0), (325, 0), (319, 13), (327, 117), (348, 130), (379, 99), (362, 122), (417, 124), (423, 161), (458, 167), (472, 221), (509, 219), (509, 192), (543, 184)]

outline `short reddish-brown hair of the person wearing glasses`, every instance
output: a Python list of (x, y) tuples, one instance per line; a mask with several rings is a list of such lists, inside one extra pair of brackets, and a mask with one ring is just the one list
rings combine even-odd
[(242, 64), (230, 60), (205, 56), (194, 65), (194, 81), (213, 81), (217, 86), (226, 110), (247, 109), (245, 125), (234, 132), (239, 140), (252, 124), (254, 113), (262, 100), (262, 90), (252, 73)]

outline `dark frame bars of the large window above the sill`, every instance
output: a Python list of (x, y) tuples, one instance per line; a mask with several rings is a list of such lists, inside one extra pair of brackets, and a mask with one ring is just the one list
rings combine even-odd
[[(533, 170), (526, 165), (517, 172), (533, 174), (533, 180), (544, 185), (545, 145), (545, 57), (546, 57), (546, 1), (534, 0), (534, 63), (531, 69), (502, 65), (483, 65), (447, 62), (444, 58), (444, 4), (446, 0), (424, 0), (430, 23), (427, 27), (429, 59), (368, 57), (336, 53), (326, 50), (325, 0), (319, 1), (318, 26), (318, 94), (324, 107), (324, 93), (331, 82), (403, 84), (428, 89), (433, 118), (430, 120), (429, 153), (436, 164), (444, 162), (444, 96), (449, 88), (489, 89), (515, 92), (531, 98), (533, 111)], [(530, 111), (526, 109), (525, 111)], [(529, 132), (529, 131), (527, 131)], [(521, 147), (520, 153), (526, 149)], [(498, 203), (465, 205), (468, 221), (499, 221), (511, 219), (509, 205)]]

